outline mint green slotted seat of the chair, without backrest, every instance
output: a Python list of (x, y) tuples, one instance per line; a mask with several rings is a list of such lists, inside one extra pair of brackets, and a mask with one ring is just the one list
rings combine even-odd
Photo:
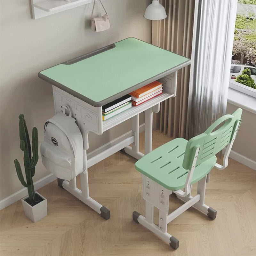
[[(177, 138), (156, 148), (136, 162), (135, 168), (164, 188), (178, 190), (185, 187), (188, 170), (182, 167), (188, 140)], [(191, 184), (201, 180), (216, 164), (212, 156), (196, 166)]]

